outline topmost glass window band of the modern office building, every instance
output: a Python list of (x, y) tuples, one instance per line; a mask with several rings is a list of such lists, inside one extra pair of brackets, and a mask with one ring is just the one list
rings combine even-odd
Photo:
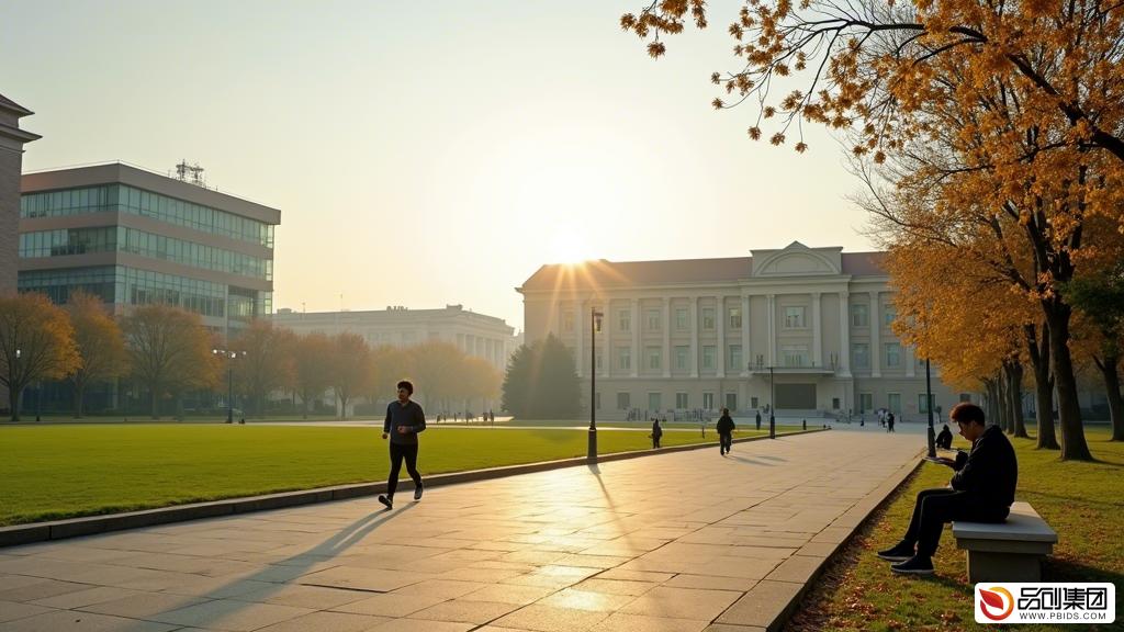
[(54, 217), (105, 211), (152, 217), (203, 233), (273, 247), (271, 224), (127, 184), (101, 184), (26, 193), (19, 201), (20, 217)]

